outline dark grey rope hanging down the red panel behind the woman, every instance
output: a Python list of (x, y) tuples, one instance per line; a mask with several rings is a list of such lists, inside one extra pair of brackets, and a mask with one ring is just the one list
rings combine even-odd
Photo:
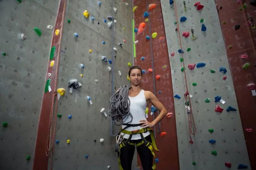
[[(146, 1), (146, 5), (149, 6), (149, 0)], [(149, 35), (152, 36), (151, 33), (151, 24), (150, 24), (150, 14), (148, 9), (148, 25), (149, 25)], [(152, 48), (152, 38), (150, 38), (150, 50), (151, 50), (151, 61), (152, 61), (152, 74), (153, 74), (153, 85), (154, 85), (154, 94), (155, 93), (155, 70), (154, 70), (154, 57), (153, 57), (153, 48)], [(157, 115), (159, 115), (159, 111), (157, 111)], [(153, 119), (155, 120), (155, 115), (153, 114)], [(158, 123), (158, 134), (161, 133), (161, 124)], [(155, 126), (154, 126), (154, 136), (155, 136)]]

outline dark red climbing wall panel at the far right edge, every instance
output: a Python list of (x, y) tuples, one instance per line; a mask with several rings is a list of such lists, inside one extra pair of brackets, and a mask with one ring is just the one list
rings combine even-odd
[[(246, 88), (247, 84), (256, 83), (256, 54), (253, 50), (253, 46), (255, 48), (254, 37), (256, 35), (256, 29), (253, 30), (250, 28), (254, 41), (252, 42), (249, 31), (245, 27), (245, 16), (248, 20), (248, 16), (251, 15), (255, 21), (256, 14), (254, 10), (256, 10), (256, 7), (246, 2), (246, 15), (244, 15), (243, 11), (239, 10), (242, 6), (241, 4), (229, 0), (215, 0), (215, 2), (218, 4), (218, 7), (222, 6), (222, 9), (218, 10), (219, 20), (226, 44), (250, 164), (252, 169), (256, 169), (256, 96), (252, 96), (251, 90)], [(226, 21), (226, 24), (223, 24), (224, 21)], [(237, 24), (240, 24), (241, 27), (235, 30), (235, 25)], [(232, 48), (229, 49), (229, 46), (232, 46)], [(241, 59), (241, 55), (244, 54), (248, 55), (248, 59)], [(243, 70), (242, 67), (247, 62), (251, 64), (251, 67)], [(252, 128), (254, 131), (248, 133), (245, 131), (247, 128)]]

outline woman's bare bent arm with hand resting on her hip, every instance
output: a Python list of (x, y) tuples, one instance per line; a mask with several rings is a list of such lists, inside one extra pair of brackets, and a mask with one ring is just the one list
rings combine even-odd
[(148, 91), (147, 96), (150, 100), (150, 103), (154, 105), (155, 108), (160, 111), (160, 113), (152, 122), (148, 122), (147, 120), (140, 120), (140, 123), (143, 123), (141, 127), (153, 127), (155, 126), (155, 124), (159, 123), (167, 114), (165, 106), (163, 106), (163, 104), (159, 102), (157, 97), (151, 91)]

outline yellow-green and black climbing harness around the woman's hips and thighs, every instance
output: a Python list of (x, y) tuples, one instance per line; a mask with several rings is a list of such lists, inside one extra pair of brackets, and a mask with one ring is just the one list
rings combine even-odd
[[(126, 131), (125, 129), (127, 129), (128, 127), (136, 127), (136, 126), (141, 126), (142, 124), (123, 124), (126, 127), (121, 129), (121, 131), (119, 132), (119, 134), (117, 135), (117, 140), (116, 140), (116, 149), (115, 152), (118, 152), (118, 164), (119, 164), (119, 170), (123, 170), (122, 165), (121, 165), (121, 161), (120, 161), (120, 153), (121, 153), (121, 148), (125, 147), (126, 144), (130, 144), (132, 146), (136, 146), (139, 147), (142, 144), (145, 144), (146, 147), (148, 147), (148, 149), (151, 151), (152, 155), (154, 156), (154, 160), (155, 160), (155, 153), (154, 150), (159, 151), (157, 149), (156, 143), (155, 143), (155, 138), (154, 138), (154, 132), (152, 131), (152, 129), (150, 129), (149, 127), (147, 128), (143, 128), (143, 129), (139, 129), (137, 131)], [(150, 132), (150, 137), (152, 140), (151, 142), (146, 141), (146, 139), (143, 137), (143, 133), (146, 132)], [(128, 139), (123, 138), (122, 135), (120, 135), (121, 133), (123, 134), (128, 134), (130, 135)], [(140, 134), (140, 137), (142, 139), (142, 141), (140, 143), (131, 143), (131, 137), (135, 134)], [(153, 150), (154, 148), (154, 150)], [(156, 167), (156, 161), (154, 161), (154, 165), (152, 166), (152, 170), (155, 170)]]

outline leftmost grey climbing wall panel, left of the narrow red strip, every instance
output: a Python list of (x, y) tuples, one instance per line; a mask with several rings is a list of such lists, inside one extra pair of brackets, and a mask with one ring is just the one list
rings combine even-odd
[[(53, 32), (47, 25), (54, 25), (57, 9), (56, 0), (0, 1), (1, 126), (8, 122), (0, 130), (0, 169), (32, 169)], [(21, 39), (22, 33), (27, 39)], [(26, 161), (28, 155), (30, 161)]]

